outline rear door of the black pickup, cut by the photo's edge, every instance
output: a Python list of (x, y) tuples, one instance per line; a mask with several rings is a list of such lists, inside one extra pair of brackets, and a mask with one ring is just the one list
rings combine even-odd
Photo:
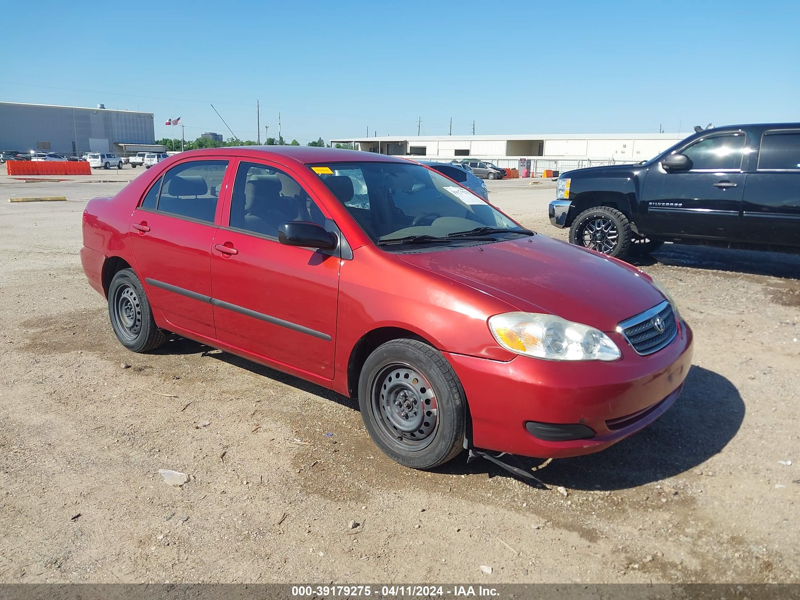
[(800, 129), (767, 130), (742, 201), (746, 242), (800, 246)]

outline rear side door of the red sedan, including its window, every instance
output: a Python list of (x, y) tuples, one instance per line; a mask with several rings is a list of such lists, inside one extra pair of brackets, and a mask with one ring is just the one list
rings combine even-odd
[(150, 186), (130, 218), (147, 297), (178, 333), (216, 337), (211, 245), (222, 205), (214, 190), (229, 162), (202, 157), (178, 163)]

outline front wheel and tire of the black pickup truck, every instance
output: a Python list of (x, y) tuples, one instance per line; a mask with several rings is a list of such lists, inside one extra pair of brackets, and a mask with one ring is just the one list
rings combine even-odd
[(630, 251), (632, 232), (625, 214), (610, 206), (593, 206), (575, 217), (570, 227), (570, 244), (576, 244), (614, 258)]

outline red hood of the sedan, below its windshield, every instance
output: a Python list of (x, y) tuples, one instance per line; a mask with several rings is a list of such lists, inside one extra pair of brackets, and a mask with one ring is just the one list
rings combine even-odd
[(542, 234), (397, 256), (517, 310), (556, 314), (602, 331), (665, 299), (635, 267)]

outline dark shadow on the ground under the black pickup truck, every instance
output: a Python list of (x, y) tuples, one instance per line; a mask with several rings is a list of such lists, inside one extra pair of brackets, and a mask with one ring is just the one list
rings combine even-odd
[(800, 278), (800, 254), (755, 250), (727, 250), (713, 246), (665, 244), (649, 256), (630, 257), (635, 266), (690, 266), (694, 269), (731, 271), (786, 279)]

